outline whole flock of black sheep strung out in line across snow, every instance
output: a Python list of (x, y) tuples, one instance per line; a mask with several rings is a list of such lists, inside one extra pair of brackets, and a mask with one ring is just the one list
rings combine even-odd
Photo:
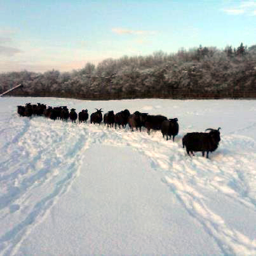
[[(79, 123), (86, 123), (89, 114), (87, 109), (83, 109), (81, 112), (76, 113), (76, 109), (67, 109), (66, 106), (62, 107), (46, 107), (45, 104), (30, 104), (27, 103), (25, 106), (18, 105), (17, 112), (20, 116), (27, 116), (31, 118), (34, 116), (44, 116), (46, 118), (50, 118), (53, 120), (60, 119), (62, 121), (68, 121), (71, 119), (72, 123), (76, 123), (78, 118)], [(179, 124), (178, 119), (167, 119), (165, 116), (161, 115), (149, 115), (147, 113), (141, 113), (139, 111), (135, 111), (133, 114), (130, 114), (128, 109), (124, 111), (118, 112), (114, 114), (114, 111), (108, 111), (102, 116), (102, 109), (96, 109), (96, 112), (93, 112), (90, 116), (90, 122), (95, 123), (102, 123), (104, 121), (104, 125), (107, 127), (117, 127), (123, 128), (126, 127), (128, 124), (130, 130), (133, 131), (134, 128), (136, 130), (140, 130), (142, 126), (147, 129), (147, 133), (150, 133), (150, 130), (161, 130), (163, 137), (168, 140), (168, 137), (174, 138), (179, 133)], [(219, 142), (220, 142), (220, 128), (217, 130), (208, 128), (205, 131), (209, 132), (192, 132), (187, 133), (182, 138), (182, 145), (186, 147), (187, 154), (190, 156), (191, 154), (194, 155), (194, 152), (200, 151), (202, 152), (202, 156), (208, 158), (209, 152), (213, 152), (217, 149)]]

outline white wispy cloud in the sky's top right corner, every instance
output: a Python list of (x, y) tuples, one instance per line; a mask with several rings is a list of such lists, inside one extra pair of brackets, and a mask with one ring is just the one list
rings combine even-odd
[(240, 1), (236, 6), (222, 9), (229, 15), (256, 15), (256, 0)]

